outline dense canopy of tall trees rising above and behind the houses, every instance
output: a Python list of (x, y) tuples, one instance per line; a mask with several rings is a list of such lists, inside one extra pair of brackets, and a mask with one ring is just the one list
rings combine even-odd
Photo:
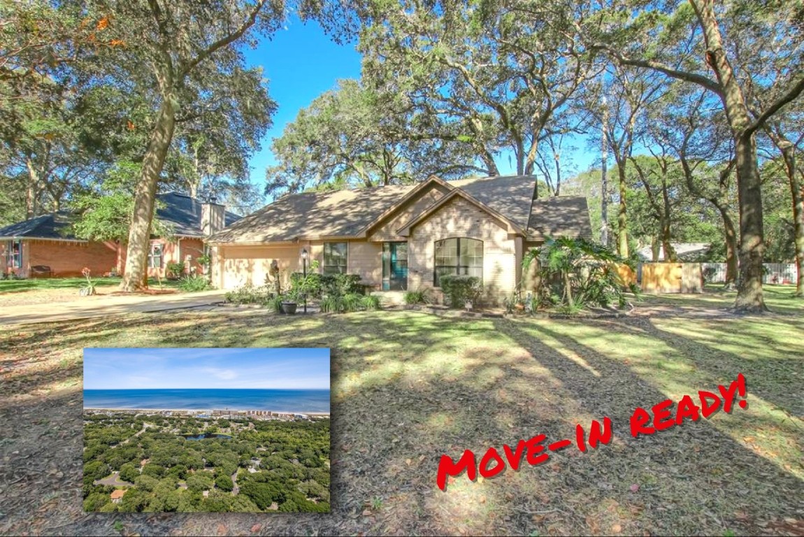
[[(142, 285), (158, 188), (259, 205), (248, 158), (276, 104), (271, 73), (243, 51), (293, 11), (356, 43), (363, 68), (273, 140), (270, 196), (537, 174), (541, 196), (593, 199), (596, 231), (608, 241), (610, 230), (621, 256), (655, 244), (672, 258), (673, 242), (714, 240), (737, 307), (764, 309), (767, 260), (795, 260), (804, 296), (800, 0), (0, 9), (0, 219), (76, 209), (83, 236), (128, 243), (125, 289)], [(605, 147), (598, 162), (612, 161), (616, 181), (572, 177), (568, 153), (584, 139)], [(125, 184), (121, 170), (133, 173)]]

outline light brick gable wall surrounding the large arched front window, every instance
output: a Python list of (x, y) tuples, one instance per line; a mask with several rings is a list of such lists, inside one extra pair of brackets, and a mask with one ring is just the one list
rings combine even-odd
[(507, 226), (465, 199), (455, 198), (412, 229), (408, 237), (408, 289), (433, 287), (435, 241), (469, 237), (483, 241), (485, 298), (498, 304), (516, 285), (516, 247)]

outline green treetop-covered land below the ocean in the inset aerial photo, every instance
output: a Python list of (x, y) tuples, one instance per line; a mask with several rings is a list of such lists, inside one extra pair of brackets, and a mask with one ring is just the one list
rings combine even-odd
[(329, 512), (330, 420), (86, 413), (84, 510)]

